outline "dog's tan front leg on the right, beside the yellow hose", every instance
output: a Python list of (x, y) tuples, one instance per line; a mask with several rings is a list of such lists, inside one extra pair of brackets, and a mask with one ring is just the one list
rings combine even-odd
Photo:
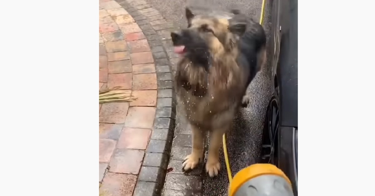
[(219, 150), (225, 131), (213, 130), (210, 132), (210, 144), (208, 146), (208, 157), (206, 163), (206, 172), (210, 177), (217, 176), (220, 171)]

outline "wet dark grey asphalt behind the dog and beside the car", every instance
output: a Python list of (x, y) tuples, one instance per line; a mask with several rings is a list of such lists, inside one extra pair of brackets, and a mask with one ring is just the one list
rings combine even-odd
[[(158, 9), (168, 20), (173, 21), (179, 27), (186, 27), (184, 18), (184, 6), (205, 7), (211, 10), (240, 9), (256, 21), (260, 19), (262, 0), (148, 0), (148, 3)], [(267, 41), (270, 39), (270, 10), (272, 1), (266, 0), (264, 10), (263, 27), (267, 33)], [(270, 51), (270, 47), (269, 51)], [(267, 51), (267, 54), (269, 54)], [(270, 55), (267, 55), (270, 56)], [(270, 92), (270, 64), (258, 73), (248, 88), (251, 101), (248, 108), (242, 109), (237, 115), (232, 130), (227, 133), (227, 147), (232, 175), (242, 168), (257, 163), (260, 157), (260, 143), (263, 130), (263, 121), (267, 104), (271, 97)], [(189, 129), (182, 116), (181, 107), (177, 105), (176, 129)], [(204, 177), (203, 196), (226, 196), (228, 177), (221, 151), (220, 162), (222, 169), (215, 178)], [(206, 153), (207, 157), (207, 153)]]

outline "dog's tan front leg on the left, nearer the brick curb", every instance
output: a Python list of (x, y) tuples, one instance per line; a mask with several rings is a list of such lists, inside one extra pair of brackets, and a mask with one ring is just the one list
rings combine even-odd
[(204, 131), (202, 131), (195, 125), (191, 125), (191, 128), (193, 147), (191, 154), (186, 156), (184, 162), (182, 163), (182, 169), (184, 171), (194, 169), (198, 165), (198, 163), (203, 160)]

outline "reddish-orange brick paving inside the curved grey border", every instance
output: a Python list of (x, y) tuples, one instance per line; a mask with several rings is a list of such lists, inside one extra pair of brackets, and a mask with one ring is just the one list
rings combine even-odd
[(108, 196), (132, 196), (156, 113), (150, 46), (129, 13), (99, 0), (99, 90), (123, 87), (134, 102), (99, 105), (99, 183)]

